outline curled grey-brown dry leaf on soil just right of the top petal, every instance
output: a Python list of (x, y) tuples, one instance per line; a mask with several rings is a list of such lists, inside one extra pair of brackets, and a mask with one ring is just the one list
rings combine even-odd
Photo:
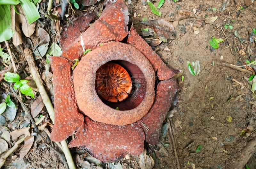
[(172, 23), (161, 19), (161, 20), (145, 20), (141, 23), (146, 24), (154, 29), (156, 32), (156, 35), (159, 37), (163, 37), (166, 39), (175, 39), (176, 38), (176, 30), (174, 30), (174, 27)]

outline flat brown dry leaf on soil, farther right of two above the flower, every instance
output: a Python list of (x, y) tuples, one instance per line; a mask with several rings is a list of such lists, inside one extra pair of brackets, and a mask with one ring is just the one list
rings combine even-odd
[(166, 20), (172, 22), (176, 20), (181, 20), (181, 19), (186, 19), (186, 18), (198, 18), (196, 14), (194, 14), (191, 11), (188, 10), (178, 10), (171, 12), (170, 14), (167, 15)]

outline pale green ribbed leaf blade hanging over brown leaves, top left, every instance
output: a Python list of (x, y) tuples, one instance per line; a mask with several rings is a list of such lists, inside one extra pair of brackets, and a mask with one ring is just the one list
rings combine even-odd
[(35, 22), (38, 18), (40, 18), (39, 12), (36, 9), (35, 4), (30, 2), (29, 0), (20, 0), (21, 7), (25, 12), (25, 15), (28, 19), (28, 24)]

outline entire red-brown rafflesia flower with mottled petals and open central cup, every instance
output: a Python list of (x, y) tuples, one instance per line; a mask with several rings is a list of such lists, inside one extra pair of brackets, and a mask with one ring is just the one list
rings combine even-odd
[[(95, 158), (115, 161), (143, 152), (144, 140), (157, 144), (177, 92), (173, 76), (150, 46), (128, 30), (122, 0), (107, 1), (100, 18), (80, 16), (63, 27), (60, 57), (51, 57), (55, 120), (52, 141), (75, 134)], [(92, 51), (84, 54), (86, 49)], [(79, 59), (74, 71), (74, 59)]]

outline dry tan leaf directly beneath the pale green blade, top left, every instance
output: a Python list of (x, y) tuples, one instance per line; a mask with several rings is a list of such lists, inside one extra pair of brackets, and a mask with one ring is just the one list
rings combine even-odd
[(20, 15), (16, 15), (17, 18), (15, 17), (15, 21), (17, 20), (17, 22), (19, 21), (19, 23), (21, 23), (21, 29), (22, 32), (24, 33), (24, 35), (28, 38), (30, 38), (30, 36), (34, 33), (35, 31), (35, 26), (36, 26), (36, 22), (33, 22), (32, 24), (28, 24), (28, 20), (24, 14), (24, 11), (22, 10), (20, 4), (16, 5), (17, 10), (20, 12)]

